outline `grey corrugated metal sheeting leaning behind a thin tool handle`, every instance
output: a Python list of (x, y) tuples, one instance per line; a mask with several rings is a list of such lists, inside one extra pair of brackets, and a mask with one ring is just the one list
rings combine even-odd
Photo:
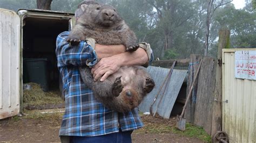
[[(155, 98), (155, 96), (157, 95), (160, 89), (160, 86), (163, 84), (165, 77), (169, 73), (170, 69), (149, 66), (147, 68), (147, 71), (149, 72), (154, 82), (156, 83), (156, 87), (154, 87), (154, 89), (150, 92), (150, 94), (148, 94), (144, 98), (143, 102), (139, 105), (139, 110), (142, 112), (149, 112), (150, 105), (153, 99)], [(167, 85), (165, 94), (157, 110), (157, 113), (161, 117), (168, 118), (168, 119), (170, 118), (173, 105), (179, 94), (181, 85), (183, 84), (186, 74), (187, 74), (187, 70), (177, 70), (177, 69), (173, 70), (170, 82)], [(163, 95), (163, 91), (164, 91), (163, 89), (161, 90), (157, 98), (157, 101), (153, 105), (153, 112), (156, 111), (156, 107), (157, 107), (157, 104), (159, 103), (160, 96)]]

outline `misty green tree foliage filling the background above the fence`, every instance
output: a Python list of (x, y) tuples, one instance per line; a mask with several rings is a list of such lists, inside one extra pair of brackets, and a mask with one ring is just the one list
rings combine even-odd
[[(54, 0), (54, 11), (75, 12), (83, 0)], [(136, 33), (138, 42), (151, 44), (154, 57), (160, 59), (183, 59), (190, 54), (204, 53), (206, 33), (205, 0), (97, 0), (113, 5), (127, 25)], [(215, 1), (217, 4), (219, 1)], [(256, 14), (255, 1), (246, 0), (244, 9), (235, 9), (232, 3), (220, 6), (214, 12), (210, 25), (209, 54), (217, 53), (218, 31), (231, 31), (230, 47), (255, 48)], [(35, 9), (35, 0), (1, 0), (0, 7), (17, 11)]]

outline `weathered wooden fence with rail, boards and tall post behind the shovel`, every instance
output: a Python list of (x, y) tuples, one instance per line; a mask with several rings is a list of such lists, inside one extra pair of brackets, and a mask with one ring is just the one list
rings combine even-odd
[[(187, 67), (187, 94), (193, 82), (202, 59), (199, 76), (193, 88), (192, 96), (189, 99), (185, 111), (187, 122), (202, 126), (204, 130), (213, 135), (221, 131), (221, 97), (222, 97), (222, 49), (228, 47), (229, 31), (220, 30), (218, 58), (202, 57), (192, 54), (190, 59), (177, 60), (177, 67)], [(174, 60), (154, 61), (152, 66), (170, 68)], [(177, 101), (176, 101), (177, 102)]]

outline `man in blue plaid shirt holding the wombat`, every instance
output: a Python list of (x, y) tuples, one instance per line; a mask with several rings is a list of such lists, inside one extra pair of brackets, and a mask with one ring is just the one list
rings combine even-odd
[[(98, 3), (80, 3), (76, 18), (83, 14), (83, 4)], [(94, 66), (93, 77), (96, 81), (100, 79), (104, 82), (122, 66), (149, 63), (153, 58), (149, 45), (143, 43), (137, 51), (126, 52), (124, 45), (99, 45), (93, 39), (82, 40), (77, 46), (71, 46), (66, 41), (68, 37), (69, 32), (59, 34), (56, 48), (66, 104), (59, 133), (62, 142), (131, 142), (131, 132), (143, 126), (138, 109), (119, 113), (105, 108), (83, 83), (78, 67), (86, 66), (86, 63)]]

